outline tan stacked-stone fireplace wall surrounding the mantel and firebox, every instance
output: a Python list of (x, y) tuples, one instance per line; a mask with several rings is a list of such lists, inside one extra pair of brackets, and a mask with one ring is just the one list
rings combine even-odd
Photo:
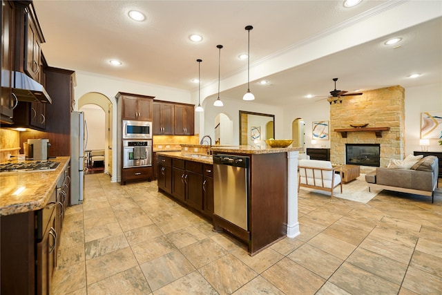
[[(368, 124), (353, 129), (350, 124)], [(363, 95), (343, 97), (341, 104), (330, 105), (330, 161), (346, 163), (346, 144), (379, 146), (379, 166), (390, 159), (403, 159), (405, 153), (405, 90), (401, 86), (363, 91)], [(383, 131), (372, 129), (385, 128)], [(346, 129), (347, 132), (336, 132)], [(357, 132), (356, 132), (357, 131)], [(361, 173), (375, 166), (361, 166)]]

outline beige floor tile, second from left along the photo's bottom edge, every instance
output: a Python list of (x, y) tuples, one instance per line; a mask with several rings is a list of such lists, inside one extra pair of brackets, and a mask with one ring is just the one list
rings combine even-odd
[(88, 285), (88, 294), (94, 295), (121, 295), (133, 294), (144, 295), (151, 294), (151, 288), (148, 286), (146, 278), (139, 266), (127, 269), (97, 283)]

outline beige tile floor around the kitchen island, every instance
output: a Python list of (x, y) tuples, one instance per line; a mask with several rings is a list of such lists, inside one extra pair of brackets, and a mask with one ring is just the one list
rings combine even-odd
[(156, 182), (86, 175), (51, 294), (442, 294), (442, 193), (363, 204), (301, 190), (299, 222), (300, 236), (251, 257)]

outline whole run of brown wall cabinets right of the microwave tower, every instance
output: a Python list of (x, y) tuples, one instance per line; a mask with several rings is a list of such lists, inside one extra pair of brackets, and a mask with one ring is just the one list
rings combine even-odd
[(153, 102), (153, 135), (193, 135), (195, 112), (193, 104)]

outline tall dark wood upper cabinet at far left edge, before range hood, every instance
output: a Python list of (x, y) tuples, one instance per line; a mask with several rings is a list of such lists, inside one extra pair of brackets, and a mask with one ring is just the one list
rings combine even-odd
[(0, 122), (12, 124), (13, 109), (18, 100), (12, 93), (12, 70), (14, 57), (14, 6), (10, 1), (1, 0), (1, 90)]

